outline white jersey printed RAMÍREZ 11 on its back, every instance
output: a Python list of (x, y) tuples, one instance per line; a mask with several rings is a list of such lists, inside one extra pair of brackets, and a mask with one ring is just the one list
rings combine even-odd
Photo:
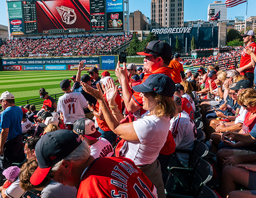
[(73, 124), (80, 118), (86, 118), (83, 109), (87, 106), (87, 100), (82, 93), (69, 92), (59, 97), (57, 112), (63, 113), (65, 124)]

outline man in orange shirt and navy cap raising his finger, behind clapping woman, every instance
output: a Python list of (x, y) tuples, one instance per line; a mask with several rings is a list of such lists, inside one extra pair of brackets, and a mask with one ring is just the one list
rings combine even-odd
[[(168, 43), (163, 41), (151, 41), (145, 48), (144, 52), (138, 52), (138, 55), (144, 55), (144, 78), (141, 83), (143, 83), (149, 75), (151, 74), (166, 74), (170, 78), (172, 75), (172, 68), (169, 68), (169, 62), (172, 60), (172, 47)], [(138, 92), (132, 92), (129, 86), (129, 81), (127, 78), (127, 69), (124, 62), (124, 67), (120, 67), (120, 62), (117, 63), (117, 68), (115, 69), (115, 75), (118, 77), (120, 84), (123, 88), (123, 99), (125, 107), (129, 112), (136, 112), (136, 116), (140, 116), (145, 113), (143, 110), (142, 98), (139, 97)]]

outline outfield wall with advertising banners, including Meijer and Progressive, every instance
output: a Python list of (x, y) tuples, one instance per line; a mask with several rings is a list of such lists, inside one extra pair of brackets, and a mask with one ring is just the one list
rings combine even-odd
[(115, 69), (119, 61), (118, 55), (102, 56), (52, 56), (27, 58), (2, 58), (0, 71), (52, 71), (77, 70), (83, 61), (86, 70), (96, 66), (100, 70)]

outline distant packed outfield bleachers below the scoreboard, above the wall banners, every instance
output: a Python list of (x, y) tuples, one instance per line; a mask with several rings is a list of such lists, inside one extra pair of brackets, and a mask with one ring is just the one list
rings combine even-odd
[(29, 56), (103, 55), (130, 41), (132, 35), (77, 36), (7, 40), (0, 48), (6, 58)]

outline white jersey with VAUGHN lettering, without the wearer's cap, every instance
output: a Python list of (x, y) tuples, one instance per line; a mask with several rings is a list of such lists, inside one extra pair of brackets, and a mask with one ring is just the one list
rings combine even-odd
[(114, 154), (113, 147), (107, 139), (100, 137), (97, 142), (89, 145), (90, 155), (95, 159), (98, 157), (111, 157)]

